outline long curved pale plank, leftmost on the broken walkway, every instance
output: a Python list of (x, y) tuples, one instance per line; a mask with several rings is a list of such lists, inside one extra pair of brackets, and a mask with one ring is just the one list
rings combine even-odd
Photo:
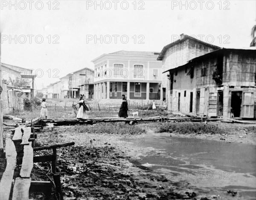
[(0, 182), (0, 199), (9, 200), (14, 170), (16, 166), (16, 148), (11, 138), (6, 138), (6, 159), (7, 165)]

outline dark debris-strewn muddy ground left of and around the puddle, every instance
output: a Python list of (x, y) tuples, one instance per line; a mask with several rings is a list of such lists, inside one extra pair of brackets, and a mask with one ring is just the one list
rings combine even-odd
[[(211, 136), (216, 140), (225, 138), (226, 141), (232, 143), (242, 142), (255, 145), (254, 125), (212, 123), (227, 129), (228, 132), (203, 136)], [(223, 197), (200, 192), (195, 186), (185, 181), (174, 182), (163, 174), (151, 171), (147, 166), (133, 164), (139, 155), (145, 155), (152, 150), (144, 147), (145, 138), (148, 132), (154, 132), (158, 123), (136, 124), (135, 126), (144, 128), (145, 132), (135, 135), (121, 132), (106, 134), (83, 131), (81, 126), (52, 127), (51, 124), (49, 125), (38, 132), (36, 146), (75, 142), (74, 146), (57, 150), (58, 167), (66, 200), (223, 199)], [(182, 136), (180, 133), (154, 134), (155, 137), (160, 135)], [(202, 137), (202, 135), (191, 133), (186, 134), (186, 137)], [(37, 155), (52, 154), (49, 150), (36, 153)], [(34, 167), (32, 179), (49, 180), (45, 175), (50, 169), (49, 163), (37, 163), (37, 166), (45, 173)], [(45, 198), (42, 193), (33, 193), (31, 196), (31, 199)], [(54, 193), (52, 193), (52, 199), (55, 199)], [(233, 199), (232, 195), (230, 199)]]

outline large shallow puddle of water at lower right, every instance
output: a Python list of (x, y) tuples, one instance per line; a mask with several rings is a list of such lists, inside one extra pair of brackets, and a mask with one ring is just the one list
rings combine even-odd
[(173, 181), (187, 181), (207, 191), (239, 191), (243, 197), (256, 197), (256, 146), (227, 143), (211, 138), (157, 138), (147, 135), (137, 165), (164, 173)]

